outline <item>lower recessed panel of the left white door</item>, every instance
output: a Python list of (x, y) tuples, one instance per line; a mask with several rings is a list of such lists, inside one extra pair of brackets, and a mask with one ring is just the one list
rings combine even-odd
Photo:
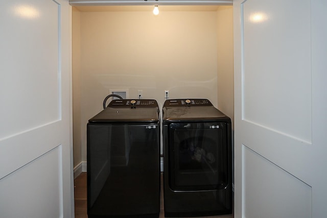
[(61, 153), (58, 146), (0, 180), (1, 217), (63, 217)]

